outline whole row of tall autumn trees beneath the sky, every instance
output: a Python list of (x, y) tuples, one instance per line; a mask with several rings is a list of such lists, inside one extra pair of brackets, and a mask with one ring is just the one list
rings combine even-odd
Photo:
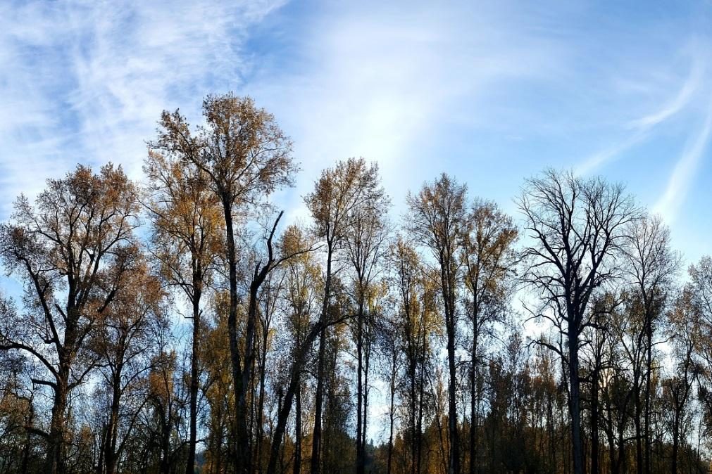
[(624, 184), (545, 169), (508, 215), (443, 173), (395, 215), (344, 158), (298, 219), (252, 99), (156, 118), (140, 180), (0, 225), (0, 474), (709, 472), (712, 258)]

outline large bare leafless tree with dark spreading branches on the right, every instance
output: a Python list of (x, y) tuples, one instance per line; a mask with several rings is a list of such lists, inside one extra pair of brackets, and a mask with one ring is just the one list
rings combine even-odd
[(542, 296), (544, 311), (538, 316), (553, 323), (567, 342), (565, 351), (541, 343), (567, 365), (573, 469), (582, 474), (580, 335), (592, 325), (587, 310), (595, 291), (620, 274), (617, 257), (637, 210), (622, 185), (553, 170), (528, 179), (518, 204), (531, 239), (524, 249), (524, 279)]

